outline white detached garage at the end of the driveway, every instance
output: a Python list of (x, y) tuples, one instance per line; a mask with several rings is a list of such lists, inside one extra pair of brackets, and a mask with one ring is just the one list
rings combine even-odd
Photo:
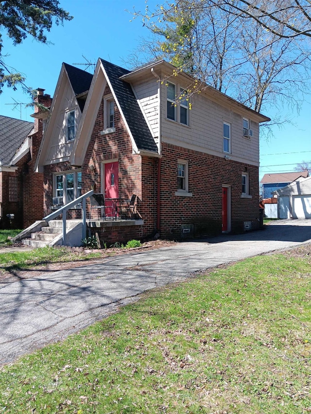
[(311, 218), (311, 177), (299, 177), (274, 194), (278, 218)]

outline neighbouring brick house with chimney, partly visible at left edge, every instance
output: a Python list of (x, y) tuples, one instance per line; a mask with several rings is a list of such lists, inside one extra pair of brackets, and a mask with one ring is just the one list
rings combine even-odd
[[(51, 97), (37, 89), (35, 102)], [(35, 106), (35, 122), (0, 116), (0, 227), (25, 228), (43, 215), (43, 175), (34, 172), (48, 111)], [(34, 202), (35, 200), (35, 202)], [(14, 214), (14, 220), (7, 217)]]

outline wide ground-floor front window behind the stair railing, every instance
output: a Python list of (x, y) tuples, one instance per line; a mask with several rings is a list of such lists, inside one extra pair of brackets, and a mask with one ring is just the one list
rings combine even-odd
[(55, 197), (62, 197), (63, 204), (81, 196), (82, 172), (70, 171), (55, 175)]

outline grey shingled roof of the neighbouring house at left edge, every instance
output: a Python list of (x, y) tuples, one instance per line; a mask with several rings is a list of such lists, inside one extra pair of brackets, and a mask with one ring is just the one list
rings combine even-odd
[(33, 122), (0, 115), (0, 162), (2, 165), (10, 165), (17, 149), (33, 128)]

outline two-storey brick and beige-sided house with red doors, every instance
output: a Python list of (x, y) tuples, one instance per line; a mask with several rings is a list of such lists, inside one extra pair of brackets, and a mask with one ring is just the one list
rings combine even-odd
[(35, 165), (45, 215), (93, 188), (138, 195), (141, 220), (88, 223), (108, 242), (259, 228), (259, 123), (269, 118), (207, 85), (186, 99), (194, 79), (174, 69), (99, 59), (91, 76), (63, 64)]

